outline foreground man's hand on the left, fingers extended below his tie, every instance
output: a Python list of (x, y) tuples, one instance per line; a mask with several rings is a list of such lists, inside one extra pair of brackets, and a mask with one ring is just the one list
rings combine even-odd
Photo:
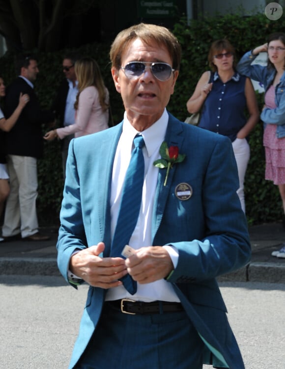
[(118, 279), (126, 275), (125, 260), (122, 258), (101, 258), (98, 255), (105, 244), (88, 247), (70, 258), (69, 269), (85, 280), (90, 286), (109, 289), (122, 285)]

